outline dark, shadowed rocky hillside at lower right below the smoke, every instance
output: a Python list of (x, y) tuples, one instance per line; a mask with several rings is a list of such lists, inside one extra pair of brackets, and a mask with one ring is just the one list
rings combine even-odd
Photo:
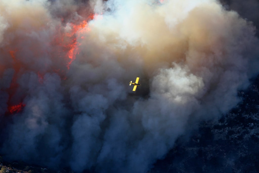
[(220, 120), (181, 137), (155, 172), (259, 172), (259, 80), (240, 92), (243, 101)]

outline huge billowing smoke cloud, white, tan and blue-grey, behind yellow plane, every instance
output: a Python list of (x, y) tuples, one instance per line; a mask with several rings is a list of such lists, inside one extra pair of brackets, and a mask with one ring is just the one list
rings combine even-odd
[(215, 0), (2, 0), (0, 153), (147, 172), (240, 101), (259, 70), (255, 31)]

